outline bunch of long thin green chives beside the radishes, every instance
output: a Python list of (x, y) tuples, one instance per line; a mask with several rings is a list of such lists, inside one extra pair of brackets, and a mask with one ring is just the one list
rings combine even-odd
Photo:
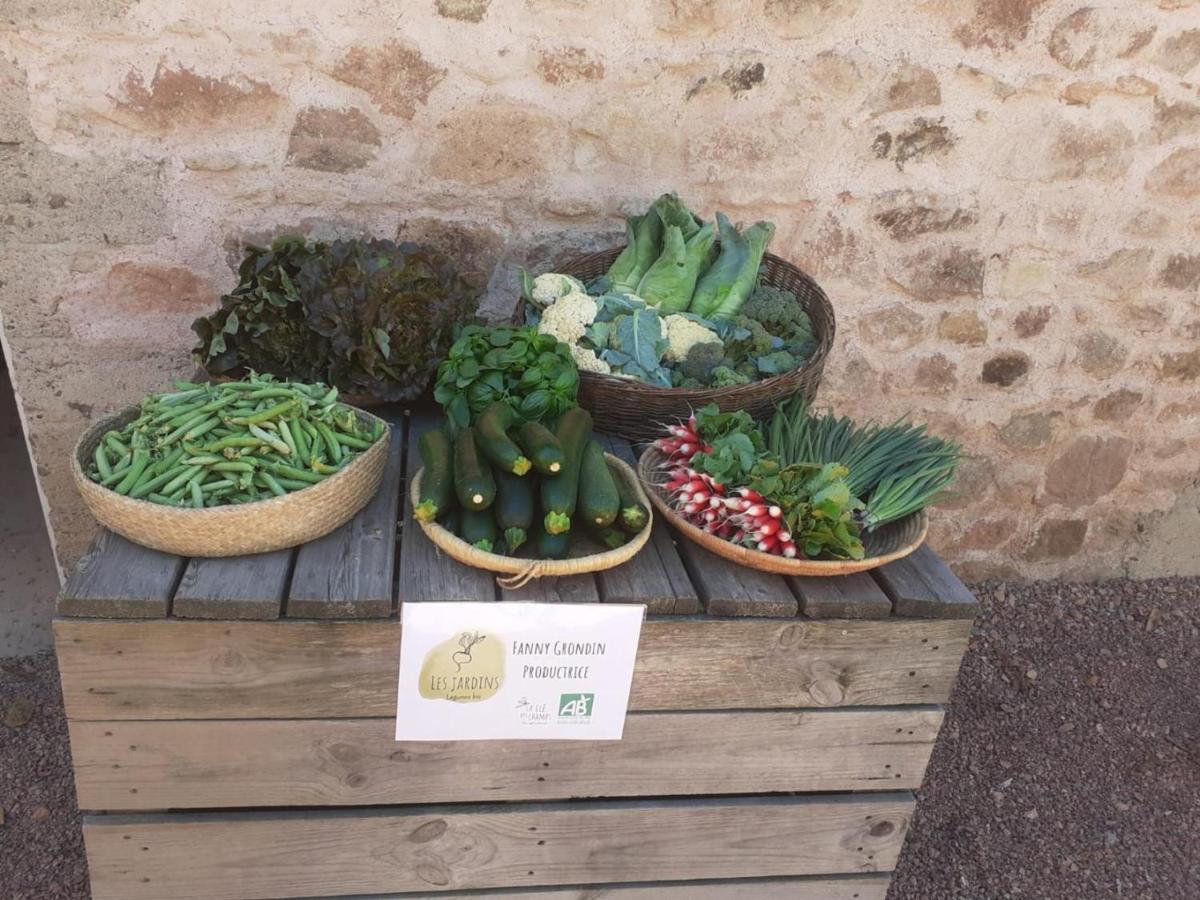
[(814, 414), (804, 397), (779, 406), (767, 427), (768, 449), (784, 466), (839, 462), (863, 500), (863, 527), (874, 530), (924, 509), (946, 494), (962, 448), (930, 434), (924, 425), (856, 424), (826, 410)]

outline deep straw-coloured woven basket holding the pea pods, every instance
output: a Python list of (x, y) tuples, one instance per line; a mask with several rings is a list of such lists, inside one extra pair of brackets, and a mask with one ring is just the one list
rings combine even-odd
[[(102, 487), (84, 474), (104, 432), (138, 416), (130, 407), (92, 425), (76, 444), (71, 472), (91, 515), (106, 528), (166, 553), (236, 557), (294, 547), (329, 534), (362, 509), (379, 490), (388, 464), (390, 430), (342, 470), (284, 497), (206, 509), (163, 506)], [(355, 409), (373, 427), (376, 416)], [(382, 421), (382, 420), (380, 420)]]

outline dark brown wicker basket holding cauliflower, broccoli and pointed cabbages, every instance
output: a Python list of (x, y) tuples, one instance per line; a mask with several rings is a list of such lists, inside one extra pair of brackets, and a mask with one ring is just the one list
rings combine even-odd
[[(623, 247), (613, 247), (575, 257), (559, 263), (554, 271), (589, 282), (608, 271), (622, 250)], [(722, 410), (745, 409), (758, 418), (770, 413), (778, 402), (796, 394), (804, 395), (811, 402), (821, 384), (826, 356), (833, 346), (833, 305), (811, 277), (773, 253), (763, 257), (758, 280), (763, 284), (791, 290), (809, 313), (817, 346), (802, 366), (737, 388), (701, 390), (659, 388), (629, 378), (580, 372), (580, 406), (592, 413), (596, 430), (619, 434), (629, 440), (652, 440), (662, 431), (664, 422), (682, 421), (707, 403), (716, 403)], [(524, 301), (517, 306), (515, 320), (518, 324), (524, 322)]]

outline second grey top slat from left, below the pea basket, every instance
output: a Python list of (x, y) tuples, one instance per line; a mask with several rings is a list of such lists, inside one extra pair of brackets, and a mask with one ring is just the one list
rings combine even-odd
[(292, 569), (290, 550), (188, 560), (172, 611), (194, 619), (277, 619)]

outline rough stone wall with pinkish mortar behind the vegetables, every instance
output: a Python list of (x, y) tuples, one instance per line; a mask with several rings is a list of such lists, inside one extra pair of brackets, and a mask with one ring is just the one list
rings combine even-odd
[(1196, 571), (1198, 64), (1195, 0), (5, 0), (4, 331), (60, 558), (73, 439), (191, 370), (244, 240), (431, 239), (502, 316), (674, 188), (824, 284), (826, 401), (971, 448), (934, 529), (966, 576)]

